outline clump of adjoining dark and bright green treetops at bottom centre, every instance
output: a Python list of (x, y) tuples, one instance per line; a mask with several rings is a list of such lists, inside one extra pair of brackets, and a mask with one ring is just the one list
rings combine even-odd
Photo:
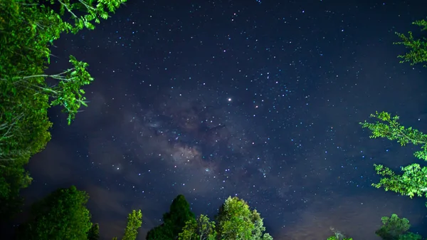
[(270, 234), (265, 233), (260, 214), (238, 197), (226, 199), (215, 222), (203, 214), (194, 219), (182, 195), (174, 199), (170, 212), (164, 214), (164, 224), (150, 230), (147, 239), (273, 240)]

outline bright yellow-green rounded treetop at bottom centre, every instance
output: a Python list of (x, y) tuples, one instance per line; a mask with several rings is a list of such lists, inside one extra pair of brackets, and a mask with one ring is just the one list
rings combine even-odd
[(251, 211), (248, 204), (238, 197), (228, 197), (216, 216), (217, 239), (273, 239), (264, 231), (260, 214), (256, 210)]

